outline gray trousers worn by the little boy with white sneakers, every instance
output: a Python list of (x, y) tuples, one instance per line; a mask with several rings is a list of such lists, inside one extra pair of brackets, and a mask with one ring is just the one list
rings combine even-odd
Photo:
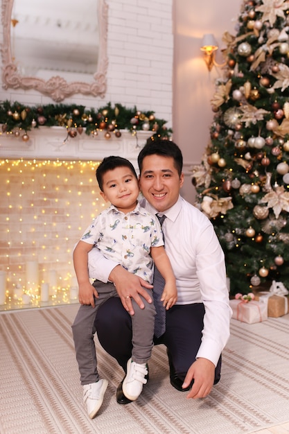
[[(94, 344), (94, 333), (96, 333), (94, 321), (98, 308), (110, 297), (119, 297), (114, 284), (104, 284), (96, 280), (93, 285), (99, 295), (99, 298), (94, 299), (96, 306), (93, 308), (91, 305), (82, 304), (72, 324), (76, 360), (78, 361), (82, 385), (95, 383), (99, 380)], [(143, 289), (152, 297), (151, 289)], [(146, 363), (151, 356), (153, 345), (155, 306), (153, 303), (150, 304), (146, 300), (142, 300), (145, 305), (144, 309), (140, 309), (132, 299), (134, 309), (134, 315), (132, 315), (132, 361), (135, 363)], [(114, 318), (112, 318), (113, 320)]]

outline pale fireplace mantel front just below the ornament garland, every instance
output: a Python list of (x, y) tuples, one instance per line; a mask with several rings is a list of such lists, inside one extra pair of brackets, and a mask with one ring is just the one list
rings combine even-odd
[(0, 158), (17, 159), (72, 159), (98, 161), (109, 155), (121, 155), (128, 158), (137, 168), (139, 150), (146, 144), (151, 131), (137, 131), (133, 135), (128, 130), (121, 130), (121, 137), (112, 133), (105, 139), (105, 132), (98, 136), (88, 136), (85, 132), (69, 137), (62, 127), (40, 127), (28, 132), (29, 140), (24, 141), (22, 134), (2, 133), (0, 135)]

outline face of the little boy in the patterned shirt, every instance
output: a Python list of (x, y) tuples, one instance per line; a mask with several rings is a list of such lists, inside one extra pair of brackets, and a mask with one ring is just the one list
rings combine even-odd
[(100, 195), (105, 202), (110, 202), (114, 207), (128, 213), (137, 205), (139, 196), (139, 184), (130, 168), (116, 167), (107, 171), (103, 176), (103, 191)]

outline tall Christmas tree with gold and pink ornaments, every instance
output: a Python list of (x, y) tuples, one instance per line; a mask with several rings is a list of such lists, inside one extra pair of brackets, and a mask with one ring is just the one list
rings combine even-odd
[(236, 36), (223, 36), (209, 145), (192, 169), (232, 295), (273, 280), (289, 288), (288, 33), (289, 1), (243, 1)]

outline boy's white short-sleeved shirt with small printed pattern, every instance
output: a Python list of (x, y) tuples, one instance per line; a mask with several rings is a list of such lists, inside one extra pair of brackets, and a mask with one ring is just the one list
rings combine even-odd
[(164, 245), (159, 220), (139, 203), (128, 214), (111, 205), (94, 219), (81, 241), (96, 245), (107, 259), (149, 283), (153, 272), (150, 248)]

